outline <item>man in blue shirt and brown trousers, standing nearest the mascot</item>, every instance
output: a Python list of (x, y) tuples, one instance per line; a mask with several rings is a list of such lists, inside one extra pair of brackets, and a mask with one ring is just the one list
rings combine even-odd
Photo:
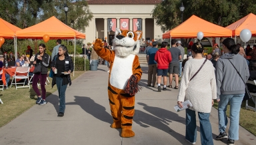
[[(158, 51), (158, 43), (157, 41), (154, 41), (152, 43), (153, 47), (147, 51), (147, 64), (149, 65), (149, 70), (148, 70), (148, 78), (147, 78), (147, 86), (152, 86), (155, 87), (155, 81), (156, 81), (156, 76), (157, 76), (157, 62), (155, 62), (155, 53)], [(152, 81), (153, 77), (153, 81)]]

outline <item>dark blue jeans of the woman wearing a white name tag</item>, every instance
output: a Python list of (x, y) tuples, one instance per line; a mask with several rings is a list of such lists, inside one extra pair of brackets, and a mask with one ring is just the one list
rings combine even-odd
[(66, 94), (67, 84), (63, 85), (62, 82), (63, 82), (63, 78), (56, 77), (56, 84), (59, 92), (59, 112), (64, 113), (66, 108), (65, 94)]

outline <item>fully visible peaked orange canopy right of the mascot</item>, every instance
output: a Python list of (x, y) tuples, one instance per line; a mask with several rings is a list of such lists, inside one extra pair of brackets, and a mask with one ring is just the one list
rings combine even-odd
[(169, 38), (196, 38), (198, 32), (203, 32), (203, 37), (231, 37), (232, 31), (215, 25), (195, 15), (192, 15), (181, 25), (163, 34), (163, 39)]

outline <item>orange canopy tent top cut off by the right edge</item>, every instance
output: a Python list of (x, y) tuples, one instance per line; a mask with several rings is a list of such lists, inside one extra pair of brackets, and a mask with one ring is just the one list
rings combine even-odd
[(232, 30), (233, 36), (239, 36), (240, 32), (243, 29), (249, 29), (251, 31), (251, 35), (256, 36), (256, 25), (255, 25), (256, 15), (250, 13), (249, 15), (239, 19), (235, 23), (227, 26), (227, 29)]

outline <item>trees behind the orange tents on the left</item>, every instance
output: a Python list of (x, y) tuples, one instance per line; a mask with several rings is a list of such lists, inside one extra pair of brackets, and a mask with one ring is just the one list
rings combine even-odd
[[(0, 3), (0, 17), (21, 29), (45, 21), (52, 16), (65, 23), (63, 8), (65, 3), (69, 7), (67, 12), (67, 25), (69, 27), (85, 33), (85, 27), (93, 18), (86, 0), (0, 0)], [(18, 41), (24, 40), (18, 39)], [(79, 40), (77, 42), (81, 43)], [(19, 47), (18, 49), (26, 48)], [(5, 51), (14, 51), (13, 39), (5, 41), (0, 54)]]

